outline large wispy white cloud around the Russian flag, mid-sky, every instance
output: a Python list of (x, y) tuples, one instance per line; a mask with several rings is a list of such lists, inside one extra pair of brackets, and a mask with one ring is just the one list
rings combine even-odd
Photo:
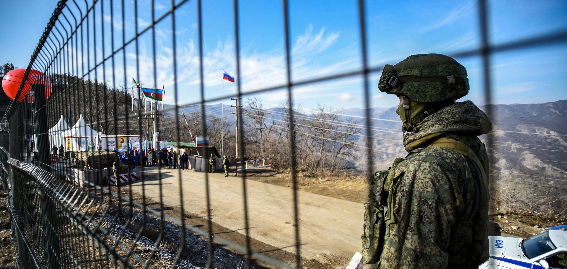
[[(160, 40), (171, 39), (172, 32), (170, 29), (158, 28), (155, 29), (155, 33), (156, 40), (158, 41), (155, 59), (157, 85), (158, 88), (160, 88), (160, 84), (163, 84), (166, 89), (171, 88), (172, 85), (174, 85), (173, 53), (171, 45), (164, 45)], [(181, 33), (183, 33), (183, 31), (176, 31), (178, 36)], [(306, 31), (296, 38), (296, 42), (293, 46), (293, 72), (298, 74), (297, 77), (306, 75), (316, 76), (321, 73), (336, 72), (336, 70), (342, 70), (349, 64), (352, 64), (352, 59), (348, 59), (345, 62), (320, 66), (318, 62), (313, 60), (314, 57), (329, 50), (329, 47), (337, 41), (338, 36), (338, 33), (326, 33), (324, 28), (314, 33), (311, 25), (307, 27)], [(139, 80), (142, 85), (151, 87), (154, 85), (153, 56), (151, 52), (147, 53), (146, 47), (142, 45), (143, 42), (140, 44), (141, 48), (139, 50), (138, 60), (139, 66), (143, 68), (140, 68), (138, 71), (140, 73)], [(215, 47), (205, 47), (204, 49), (203, 75), (206, 87), (205, 98), (210, 98), (211, 96), (216, 96), (216, 94), (220, 95), (221, 84), (223, 83), (223, 69), (231, 73), (231, 75), (236, 75), (234, 40), (232, 37), (227, 36), (224, 41), (218, 41)], [(151, 51), (151, 46), (149, 50)], [(198, 44), (195, 44), (192, 39), (187, 39), (183, 44), (177, 44), (176, 55), (177, 85), (179, 85), (179, 89), (187, 90), (196, 88), (200, 85)], [(128, 59), (128, 72), (136, 71), (136, 54), (128, 53), (126, 54), (126, 58)], [(119, 72), (116, 73), (118, 76), (121, 75)], [(240, 77), (236, 77), (236, 80), (240, 80), (243, 93), (268, 86), (284, 85), (286, 81), (285, 74), (286, 61), (283, 52), (274, 53), (273, 51), (268, 51), (266, 53), (257, 53), (255, 51), (253, 53), (246, 53), (242, 51), (240, 53)], [(117, 81), (124, 81), (124, 79), (117, 77)], [(341, 81), (341, 83), (338, 84), (333, 83), (332, 88), (344, 87), (346, 86), (344, 83), (352, 83), (352, 81)], [(328, 89), (328, 85), (295, 87), (294, 99), (312, 97), (313, 92), (323, 92)], [(235, 93), (235, 84), (225, 83), (224, 90), (225, 94)], [(284, 91), (282, 91), (282, 93), (284, 93)], [(197, 96), (197, 98), (200, 98), (200, 96)], [(280, 95), (270, 93), (266, 95), (266, 101), (280, 102), (285, 99), (287, 99), (287, 94)], [(180, 96), (180, 100), (182, 103), (187, 102), (188, 96)], [(166, 94), (164, 101), (166, 103), (173, 103), (174, 98), (172, 95)]]

